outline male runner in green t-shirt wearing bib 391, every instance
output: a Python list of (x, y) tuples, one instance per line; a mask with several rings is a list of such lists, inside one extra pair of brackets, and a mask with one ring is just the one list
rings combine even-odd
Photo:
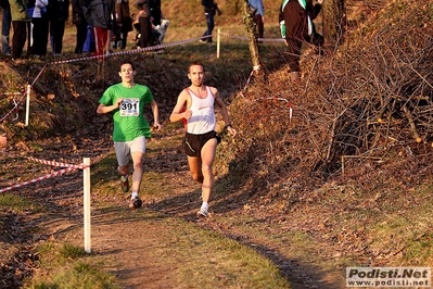
[(150, 104), (153, 113), (153, 127), (161, 130), (160, 112), (149, 87), (133, 81), (136, 70), (131, 62), (120, 64), (122, 83), (109, 87), (99, 100), (97, 113), (113, 112), (113, 141), (120, 174), (120, 185), (124, 192), (129, 191), (129, 161), (132, 159), (132, 193), (130, 209), (140, 208), (139, 197), (143, 177), (142, 158), (145, 152), (145, 138), (151, 137), (151, 128), (144, 118), (144, 105)]

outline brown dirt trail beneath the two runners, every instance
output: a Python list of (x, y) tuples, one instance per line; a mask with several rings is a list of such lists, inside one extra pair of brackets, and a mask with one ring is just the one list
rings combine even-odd
[[(76, 143), (75, 151), (59, 148), (55, 143), (44, 143), (47, 150), (43, 151), (43, 155), (50, 155), (52, 160), (62, 160), (66, 153), (68, 162), (80, 163), (82, 158), (92, 151), (94, 163), (112, 150), (109, 139), (89, 141), (93, 143), (92, 150), (85, 143)], [(164, 141), (164, 137), (156, 141)], [(176, 267), (181, 266), (181, 261), (176, 257), (177, 253), (171, 252), (171, 255), (164, 257), (166, 251), (173, 250), (173, 244), (177, 241), (170, 233), (179, 229), (178, 221), (187, 221), (199, 228), (213, 229), (251, 246), (272, 260), (281, 273), (293, 281), (294, 288), (342, 288), (339, 281), (328, 280), (314, 266), (284, 256), (283, 252), (290, 249), (290, 246), (278, 248), (268, 242), (266, 237), (255, 236), (254, 231), (237, 230), (235, 226), (227, 225), (233, 222), (233, 217), (237, 218), (237, 214), (244, 214), (242, 203), (233, 204), (232, 201), (219, 200), (218, 205), (211, 208), (212, 219), (205, 223), (198, 222), (195, 212), (200, 206), (200, 187), (191, 179), (187, 160), (178, 148), (149, 150), (144, 163), (147, 169), (165, 174), (165, 180), (156, 184), (162, 188), (166, 186), (164, 197), (155, 199), (152, 193), (142, 192), (144, 208), (136, 211), (127, 208), (128, 198), (120, 192), (118, 196), (103, 199), (95, 197), (103, 196), (101, 193), (92, 197), (92, 252), (97, 255), (95, 260), (103, 262), (105, 268), (122, 281), (123, 288), (182, 288), (177, 280)], [(84, 246), (81, 176), (81, 172), (75, 172), (20, 189), (20, 194), (43, 201), (49, 212), (43, 215), (24, 214), (18, 219), (10, 221), (15, 225), (20, 223), (31, 227), (37, 224), (38, 227), (44, 228), (43, 234), (28, 236), (26, 239), (23, 239), (21, 233), (14, 234), (11, 236), (14, 239), (14, 248), (25, 242), (28, 250), (31, 250), (34, 244), (48, 239)], [(174, 188), (171, 183), (179, 186)], [(264, 226), (266, 227), (266, 224)], [(2, 246), (8, 241), (3, 237), (0, 240)], [(0, 261), (9, 262), (13, 250), (4, 252)], [(20, 288), (17, 284), (4, 288)]]

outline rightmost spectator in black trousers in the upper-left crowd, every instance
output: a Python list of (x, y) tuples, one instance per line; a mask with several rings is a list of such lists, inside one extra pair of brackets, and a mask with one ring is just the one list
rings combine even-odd
[(153, 46), (156, 39), (152, 34), (150, 2), (149, 0), (137, 0), (135, 7), (139, 10), (137, 16), (140, 33), (138, 46), (140, 48)]

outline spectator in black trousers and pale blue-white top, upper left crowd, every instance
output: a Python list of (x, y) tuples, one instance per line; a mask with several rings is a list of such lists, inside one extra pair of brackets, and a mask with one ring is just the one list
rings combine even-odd
[(47, 54), (49, 36), (49, 18), (47, 15), (48, 0), (36, 0), (31, 16), (31, 54), (37, 58)]

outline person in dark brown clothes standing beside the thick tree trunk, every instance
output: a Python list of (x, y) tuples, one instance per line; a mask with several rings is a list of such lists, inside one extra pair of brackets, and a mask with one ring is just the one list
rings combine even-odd
[(303, 42), (323, 46), (323, 37), (315, 29), (313, 20), (321, 10), (322, 0), (284, 0), (281, 4), (279, 21), (285, 26), (281, 30), (288, 46), (289, 67), (292, 80), (301, 78), (301, 48)]

